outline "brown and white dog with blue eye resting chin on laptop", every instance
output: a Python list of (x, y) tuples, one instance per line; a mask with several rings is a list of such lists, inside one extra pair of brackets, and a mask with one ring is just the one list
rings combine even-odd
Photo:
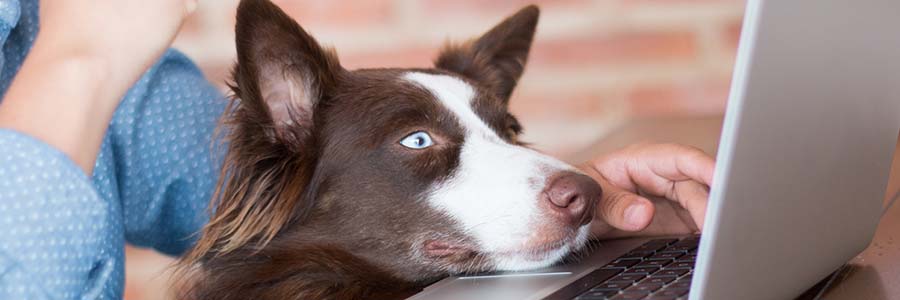
[(600, 187), (519, 142), (507, 110), (538, 14), (431, 69), (350, 71), (269, 1), (242, 1), (225, 167), (178, 296), (398, 298), (583, 247)]

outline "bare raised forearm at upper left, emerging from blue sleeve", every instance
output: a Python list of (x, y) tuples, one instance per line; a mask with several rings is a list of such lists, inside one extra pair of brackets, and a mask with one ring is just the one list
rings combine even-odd
[(119, 99), (168, 48), (196, 0), (52, 1), (0, 104), (0, 128), (59, 149), (87, 174)]

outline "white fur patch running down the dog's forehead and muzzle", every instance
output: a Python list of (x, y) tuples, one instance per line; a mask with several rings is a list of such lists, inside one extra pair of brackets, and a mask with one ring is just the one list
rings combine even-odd
[[(564, 246), (542, 259), (515, 255), (528, 248), (538, 226), (546, 224), (538, 201), (547, 177), (575, 168), (537, 151), (501, 139), (472, 109), (475, 90), (447, 75), (410, 72), (404, 79), (435, 95), (465, 130), (458, 169), (435, 186), (429, 203), (461, 223), (482, 252), (504, 253), (492, 257), (500, 269), (523, 270), (551, 264), (568, 251)], [(579, 228), (579, 243), (586, 240), (589, 226)], [(534, 246), (534, 245), (531, 245)], [(510, 255), (510, 253), (513, 253)]]

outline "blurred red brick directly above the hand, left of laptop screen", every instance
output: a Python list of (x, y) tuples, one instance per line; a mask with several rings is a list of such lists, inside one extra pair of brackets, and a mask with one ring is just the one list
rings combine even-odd
[(728, 80), (641, 86), (627, 94), (631, 111), (638, 116), (702, 116), (725, 112)]

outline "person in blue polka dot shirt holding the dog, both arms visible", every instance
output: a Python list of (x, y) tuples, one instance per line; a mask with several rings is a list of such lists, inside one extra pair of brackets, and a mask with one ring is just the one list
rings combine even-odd
[[(118, 299), (125, 243), (177, 256), (195, 241), (226, 104), (167, 50), (196, 6), (0, 0), (0, 298)], [(598, 237), (703, 226), (702, 151), (634, 145), (583, 168), (604, 188)]]

